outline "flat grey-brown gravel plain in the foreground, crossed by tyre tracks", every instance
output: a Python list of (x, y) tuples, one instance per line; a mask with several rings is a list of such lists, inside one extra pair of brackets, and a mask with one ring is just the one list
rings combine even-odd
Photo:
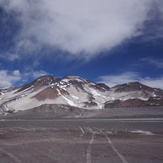
[(0, 121), (0, 163), (162, 163), (163, 120)]

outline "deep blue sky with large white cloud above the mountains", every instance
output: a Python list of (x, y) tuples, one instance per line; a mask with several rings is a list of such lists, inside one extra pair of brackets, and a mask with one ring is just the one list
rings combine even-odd
[(163, 89), (163, 0), (0, 0), (0, 88), (48, 74)]

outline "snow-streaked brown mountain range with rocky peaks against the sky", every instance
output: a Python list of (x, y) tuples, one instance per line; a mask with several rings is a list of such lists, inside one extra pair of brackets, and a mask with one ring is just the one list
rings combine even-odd
[(79, 76), (42, 76), (20, 87), (0, 90), (0, 114), (28, 110), (42, 105), (62, 105), (80, 109), (106, 109), (163, 105), (163, 90), (139, 82), (112, 88)]

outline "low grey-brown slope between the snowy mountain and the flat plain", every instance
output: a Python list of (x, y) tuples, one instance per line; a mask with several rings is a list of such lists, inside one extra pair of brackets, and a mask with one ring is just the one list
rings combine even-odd
[(107, 109), (81, 109), (67, 105), (42, 105), (33, 109), (0, 115), (13, 119), (54, 119), (54, 118), (140, 118), (163, 117), (163, 106), (121, 107)]

